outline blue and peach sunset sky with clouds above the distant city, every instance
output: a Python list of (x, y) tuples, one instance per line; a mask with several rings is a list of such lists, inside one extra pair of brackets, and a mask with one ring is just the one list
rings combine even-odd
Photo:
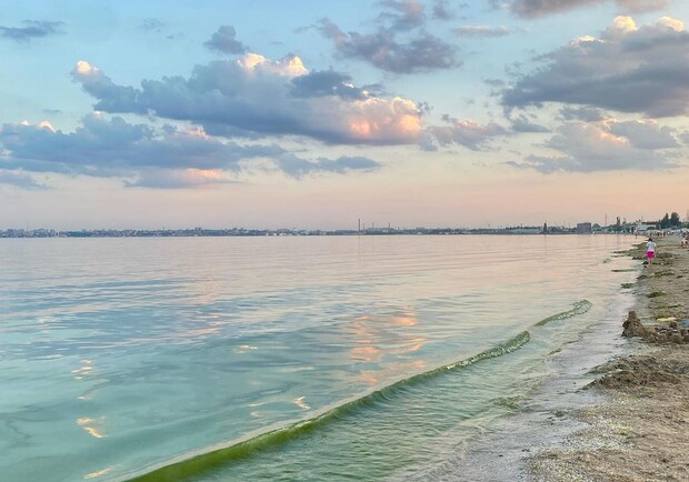
[(3, 0), (0, 229), (689, 215), (686, 0)]

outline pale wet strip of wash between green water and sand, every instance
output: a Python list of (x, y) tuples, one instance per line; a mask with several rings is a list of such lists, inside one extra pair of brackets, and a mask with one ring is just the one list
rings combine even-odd
[[(485, 433), (446, 463), (451, 468), (451, 475), (440, 470), (438, 476), (431, 472), (433, 476), (429, 479), (412, 480), (529, 482), (537, 475), (531, 469), (533, 458), (565, 446), (569, 438), (588, 426), (577, 413), (607, 400), (605, 394), (587, 389), (598, 378), (592, 372), (611, 358), (630, 353), (630, 343), (620, 333), (621, 320), (636, 303), (636, 297), (627, 287), (641, 273), (637, 261), (628, 254), (632, 241), (629, 240), (622, 251), (610, 252), (610, 258), (602, 261), (612, 272), (629, 272), (629, 275), (617, 278), (620, 284), (613, 285), (606, 309), (586, 323), (578, 339), (542, 360), (543, 376), (530, 394), (516, 401), (513, 411), (491, 422)], [(551, 480), (568, 479), (558, 474)]]

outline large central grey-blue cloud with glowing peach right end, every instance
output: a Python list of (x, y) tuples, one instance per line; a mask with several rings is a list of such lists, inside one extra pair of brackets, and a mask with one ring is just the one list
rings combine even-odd
[[(418, 141), (421, 111), (413, 101), (376, 97), (356, 89), (347, 76), (322, 73), (310, 72), (296, 56), (273, 61), (248, 53), (197, 66), (189, 79), (144, 80), (141, 89), (117, 86), (87, 62), (72, 77), (98, 99), (98, 110), (189, 121), (216, 135), (293, 134), (342, 144)], [(330, 90), (322, 88), (324, 80)]]

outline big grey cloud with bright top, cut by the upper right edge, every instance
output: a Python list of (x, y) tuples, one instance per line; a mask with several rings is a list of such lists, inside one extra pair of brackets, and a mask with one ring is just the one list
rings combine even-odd
[(638, 27), (618, 17), (598, 38), (539, 60), (543, 67), (502, 91), (506, 109), (561, 102), (653, 118), (689, 112), (689, 32), (679, 20)]

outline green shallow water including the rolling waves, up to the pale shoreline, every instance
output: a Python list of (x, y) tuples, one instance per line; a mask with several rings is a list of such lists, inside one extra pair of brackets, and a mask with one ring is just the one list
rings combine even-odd
[[(587, 313), (588, 300), (465, 360), (400, 380), (320, 416), (171, 463), (136, 482), (381, 480), (462, 450), (491, 419), (519, 406), (545, 376), (553, 345), (585, 325), (542, 327)], [(575, 328), (577, 327), (577, 328)], [(532, 340), (531, 332), (535, 332)], [(513, 353), (518, 351), (518, 353)]]

